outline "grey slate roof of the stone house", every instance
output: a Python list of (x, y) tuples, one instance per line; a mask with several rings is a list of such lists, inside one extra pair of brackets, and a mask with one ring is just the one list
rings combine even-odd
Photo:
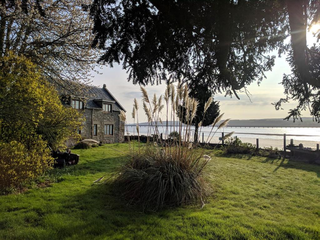
[[(70, 93), (67, 94), (66, 90), (62, 90), (62, 88), (58, 89), (58, 92), (60, 92), (61, 95), (70, 94)], [(103, 100), (115, 101), (115, 103), (113, 104), (113, 111), (118, 111), (118, 112), (120, 112), (120, 110), (125, 111), (125, 109), (111, 94), (111, 92), (105, 87), (105, 85), (102, 88), (85, 85), (85, 88), (83, 89), (83, 91), (77, 92), (76, 96), (85, 98), (84, 107), (87, 109), (102, 110), (102, 108), (100, 108), (94, 100), (103, 99)], [(66, 107), (70, 107), (69, 102), (66, 100), (62, 100), (62, 104)]]

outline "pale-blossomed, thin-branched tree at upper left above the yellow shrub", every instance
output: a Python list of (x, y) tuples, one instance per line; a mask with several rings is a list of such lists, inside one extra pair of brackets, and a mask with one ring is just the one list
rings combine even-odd
[[(23, 55), (46, 79), (71, 92), (90, 83), (98, 52), (91, 47), (90, 0), (0, 2), (0, 56)], [(73, 84), (70, 84), (73, 83)], [(74, 89), (76, 88), (76, 89)]]

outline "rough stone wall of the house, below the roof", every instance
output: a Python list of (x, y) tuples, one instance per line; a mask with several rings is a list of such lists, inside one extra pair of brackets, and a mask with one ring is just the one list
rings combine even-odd
[[(119, 124), (119, 112), (104, 112), (96, 109), (84, 109), (83, 112), (85, 117), (81, 130), (83, 138), (101, 143), (124, 142), (124, 122)], [(97, 136), (93, 135), (94, 124), (97, 124)], [(104, 135), (105, 124), (113, 124), (113, 135)]]

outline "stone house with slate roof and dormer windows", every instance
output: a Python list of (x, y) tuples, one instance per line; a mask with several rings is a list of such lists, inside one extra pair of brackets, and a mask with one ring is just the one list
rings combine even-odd
[(83, 139), (101, 143), (124, 142), (124, 122), (120, 121), (120, 110), (125, 111), (109, 92), (106, 84), (102, 88), (85, 85), (78, 96), (60, 92), (62, 104), (83, 112), (85, 121), (77, 131)]

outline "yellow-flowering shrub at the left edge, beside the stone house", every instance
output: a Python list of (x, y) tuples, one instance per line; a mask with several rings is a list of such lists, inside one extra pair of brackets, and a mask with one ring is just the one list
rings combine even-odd
[(19, 188), (49, 169), (47, 145), (56, 148), (79, 138), (76, 128), (83, 116), (62, 106), (53, 84), (31, 60), (9, 53), (0, 61), (0, 190), (4, 190)]

